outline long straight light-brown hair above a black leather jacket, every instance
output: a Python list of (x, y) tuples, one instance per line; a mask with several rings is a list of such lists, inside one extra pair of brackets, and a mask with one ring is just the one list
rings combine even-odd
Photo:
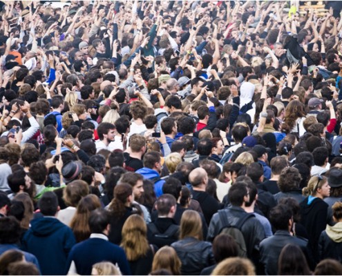
[(196, 237), (202, 240), (202, 219), (198, 212), (186, 210), (180, 219), (180, 239), (185, 237)]

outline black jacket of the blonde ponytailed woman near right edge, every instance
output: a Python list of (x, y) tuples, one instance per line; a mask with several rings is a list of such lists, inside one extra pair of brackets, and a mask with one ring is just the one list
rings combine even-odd
[(327, 225), (327, 203), (316, 197), (310, 204), (307, 204), (309, 197), (305, 198), (301, 206), (301, 224), (309, 235), (309, 245), (316, 262), (319, 262), (318, 240), (322, 231)]

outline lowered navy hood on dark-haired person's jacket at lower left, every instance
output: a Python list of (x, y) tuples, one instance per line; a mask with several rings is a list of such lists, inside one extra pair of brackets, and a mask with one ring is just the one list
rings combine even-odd
[(44, 237), (52, 234), (57, 229), (64, 227), (55, 217), (41, 217), (30, 221), (33, 235)]

